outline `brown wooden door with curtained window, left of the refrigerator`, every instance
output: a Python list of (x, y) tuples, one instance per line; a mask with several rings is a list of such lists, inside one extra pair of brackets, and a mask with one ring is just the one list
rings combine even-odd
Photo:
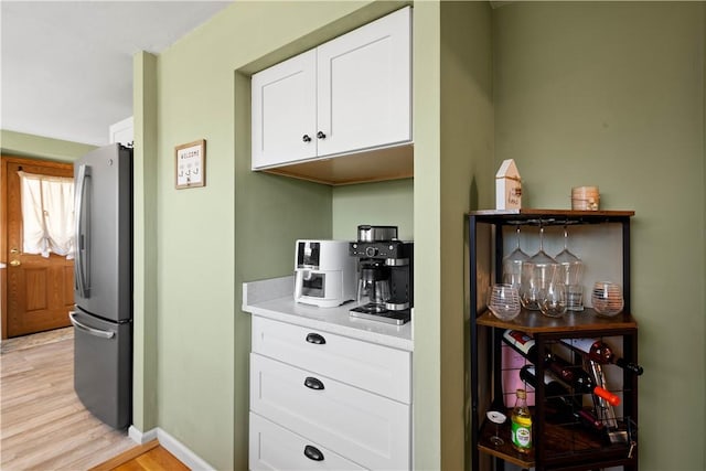
[(2, 157), (2, 261), (7, 264), (2, 338), (68, 327), (74, 304), (74, 263), (22, 253), (22, 208), (18, 171), (74, 175), (71, 163)]

